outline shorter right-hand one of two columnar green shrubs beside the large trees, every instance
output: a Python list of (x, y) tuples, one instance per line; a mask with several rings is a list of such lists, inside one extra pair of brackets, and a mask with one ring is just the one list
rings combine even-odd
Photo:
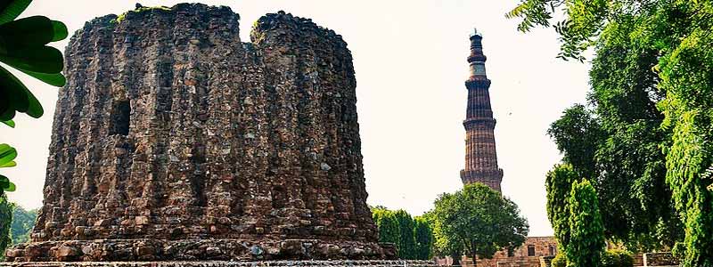
[(596, 190), (589, 181), (574, 182), (570, 193), (570, 242), (568, 267), (600, 266), (604, 252), (604, 228)]

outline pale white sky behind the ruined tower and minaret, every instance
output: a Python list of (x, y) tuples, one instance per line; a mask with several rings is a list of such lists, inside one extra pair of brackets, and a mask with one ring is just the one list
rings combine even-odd
[[(137, 0), (144, 6), (182, 1)], [(496, 147), (504, 169), (503, 193), (520, 206), (530, 236), (551, 235), (545, 212), (545, 173), (561, 159), (546, 135), (561, 111), (586, 98), (586, 63), (561, 61), (553, 29), (529, 34), (504, 13), (519, 1), (197, 1), (227, 5), (241, 15), (241, 38), (252, 22), (284, 10), (332, 28), (348, 43), (356, 69), (356, 96), (366, 174), (367, 202), (417, 215), (443, 192), (461, 188), (463, 119), (468, 77), (468, 35), (483, 34), (490, 95), (497, 120)], [(35, 0), (24, 16), (61, 20), (70, 35), (85, 21), (134, 9), (136, 1)], [(68, 38), (69, 39), (69, 38)], [(56, 44), (64, 51), (67, 41)], [(17, 73), (17, 72), (14, 72)], [(3, 169), (21, 206), (42, 205), (46, 158), (58, 88), (18, 75), (45, 108), (45, 116), (15, 117), (0, 126), (0, 143), (19, 150), (18, 166)]]

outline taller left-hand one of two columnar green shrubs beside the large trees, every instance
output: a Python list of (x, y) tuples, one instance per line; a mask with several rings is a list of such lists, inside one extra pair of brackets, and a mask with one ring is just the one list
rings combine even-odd
[(569, 164), (554, 166), (545, 178), (547, 218), (552, 223), (560, 251), (570, 243), (570, 193), (572, 183), (578, 180), (578, 174)]

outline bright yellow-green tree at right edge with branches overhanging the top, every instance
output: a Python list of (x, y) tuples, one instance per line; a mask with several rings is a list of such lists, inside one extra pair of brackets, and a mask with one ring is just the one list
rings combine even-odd
[[(589, 47), (616, 41), (613, 44), (632, 53), (606, 48), (597, 51), (594, 61), (606, 52), (619, 54), (618, 57), (628, 54), (632, 56), (626, 61), (628, 68), (608, 71), (615, 77), (643, 74), (635, 81), (660, 90), (663, 99), (656, 105), (664, 117), (661, 129), (665, 142), (660, 147), (665, 157), (665, 181), (685, 227), (683, 245), (676, 247), (685, 251), (682, 266), (713, 266), (713, 180), (709, 172), (713, 166), (713, 56), (709, 47), (713, 43), (709, 35), (713, 30), (713, 4), (683, 0), (524, 0), (508, 16), (522, 18), (520, 30), (527, 31), (537, 25), (550, 26), (557, 12), (564, 18), (555, 25), (561, 36), (563, 58), (581, 60), (582, 52)], [(634, 58), (637, 53), (640, 57)], [(632, 64), (634, 59), (643, 64)], [(646, 68), (651, 63), (652, 68)], [(646, 82), (648, 77), (653, 78)], [(660, 166), (641, 168), (652, 173), (654, 186), (660, 184), (660, 171), (656, 171)], [(647, 186), (639, 181), (637, 185), (643, 189)], [(649, 195), (665, 203), (661, 196)]]

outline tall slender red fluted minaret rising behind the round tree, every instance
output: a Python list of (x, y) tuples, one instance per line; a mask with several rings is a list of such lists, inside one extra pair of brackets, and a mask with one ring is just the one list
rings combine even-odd
[(485, 73), (486, 57), (483, 54), (483, 36), (478, 30), (471, 35), (471, 77), (465, 81), (468, 88), (468, 109), (465, 126), (465, 168), (461, 170), (463, 184), (482, 182), (500, 191), (503, 169), (497, 167), (496, 139), (493, 130), (496, 120), (490, 109), (490, 80)]

